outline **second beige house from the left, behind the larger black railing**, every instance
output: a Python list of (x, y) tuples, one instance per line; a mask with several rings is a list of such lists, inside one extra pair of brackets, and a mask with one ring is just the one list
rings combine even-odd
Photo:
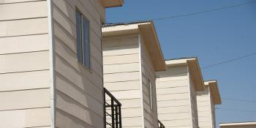
[(102, 35), (104, 86), (122, 104), (123, 127), (158, 127), (155, 72), (166, 67), (154, 23), (109, 24)]

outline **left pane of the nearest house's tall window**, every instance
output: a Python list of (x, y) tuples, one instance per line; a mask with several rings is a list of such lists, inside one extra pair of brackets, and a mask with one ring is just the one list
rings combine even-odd
[(77, 57), (78, 61), (83, 61), (83, 50), (82, 50), (82, 26), (81, 26), (81, 15), (80, 12), (76, 12), (76, 34), (77, 34)]

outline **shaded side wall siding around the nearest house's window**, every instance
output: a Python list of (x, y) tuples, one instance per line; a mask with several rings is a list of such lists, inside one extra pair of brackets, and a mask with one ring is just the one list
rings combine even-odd
[[(75, 11), (90, 21), (91, 69), (77, 61)], [(104, 127), (101, 18), (94, 0), (53, 0), (56, 127)]]

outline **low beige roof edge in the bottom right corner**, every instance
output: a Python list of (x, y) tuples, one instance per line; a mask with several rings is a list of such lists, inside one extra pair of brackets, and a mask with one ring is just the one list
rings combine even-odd
[(221, 123), (220, 128), (256, 128), (256, 122)]

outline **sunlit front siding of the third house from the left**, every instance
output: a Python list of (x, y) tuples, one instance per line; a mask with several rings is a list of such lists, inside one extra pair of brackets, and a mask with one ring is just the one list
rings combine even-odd
[[(181, 73), (182, 72), (182, 73)], [(192, 127), (187, 67), (168, 67), (157, 72), (157, 109), (165, 127)]]

